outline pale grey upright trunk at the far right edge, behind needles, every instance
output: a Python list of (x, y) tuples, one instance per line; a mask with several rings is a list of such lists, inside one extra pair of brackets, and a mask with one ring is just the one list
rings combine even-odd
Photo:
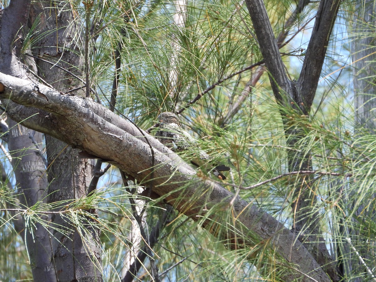
[[(376, 130), (376, 85), (374, 77), (376, 76), (376, 45), (374, 33), (376, 30), (376, 13), (374, 0), (358, 0), (353, 18), (352, 30), (350, 36), (353, 41), (351, 44), (351, 54), (353, 62), (353, 85), (354, 85), (354, 108), (355, 108), (355, 132), (362, 133), (367, 130), (369, 133), (375, 133)], [(362, 212), (362, 216), (375, 218), (374, 215), (374, 199), (369, 199), (369, 203), (358, 208), (355, 213), (355, 226), (359, 224), (358, 216)], [(364, 209), (365, 205), (369, 208)], [(359, 227), (361, 228), (361, 227)], [(348, 230), (352, 236), (352, 245), (359, 252), (359, 255), (365, 258), (373, 258), (374, 254), (368, 246), (374, 244), (374, 241), (362, 239), (359, 237), (358, 230)], [(346, 234), (344, 234), (346, 235)], [(348, 243), (345, 246), (350, 249)], [(371, 247), (372, 248), (372, 247)], [(346, 253), (348, 266), (344, 265), (344, 273), (365, 273), (366, 268), (359, 261), (358, 255), (348, 255)], [(346, 267), (348, 267), (346, 271)], [(368, 265), (368, 267), (372, 267)], [(362, 281), (362, 277), (355, 277), (353, 281)]]

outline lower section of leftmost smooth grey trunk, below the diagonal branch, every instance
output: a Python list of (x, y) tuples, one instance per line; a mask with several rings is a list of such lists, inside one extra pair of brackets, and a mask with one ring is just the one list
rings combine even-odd
[[(47, 196), (47, 177), (45, 165), (35, 144), (29, 138), (33, 130), (14, 121), (9, 121), (8, 148), (12, 156), (12, 166), (16, 185), (20, 194), (20, 203), (24, 208), (36, 203), (45, 203)], [(42, 133), (35, 132), (34, 139), (42, 143)], [(42, 216), (42, 220), (49, 220)], [(51, 257), (52, 249), (48, 230), (40, 223), (24, 226), (25, 244), (29, 252), (30, 265), (35, 281), (56, 281), (55, 268)]]

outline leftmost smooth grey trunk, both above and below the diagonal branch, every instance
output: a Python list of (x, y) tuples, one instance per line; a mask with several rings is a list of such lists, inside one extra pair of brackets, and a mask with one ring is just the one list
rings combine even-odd
[[(24, 9), (19, 9), (22, 6)], [(19, 30), (26, 26), (30, 2), (11, 1), (8, 8), (0, 12), (0, 71), (12, 76), (27, 79), (27, 69), (17, 59), (21, 43)], [(25, 208), (45, 202), (47, 195), (47, 179), (45, 165), (37, 153), (35, 145), (29, 138), (31, 130), (9, 121), (9, 150), (12, 155), (16, 185), (20, 193), (20, 203)], [(37, 143), (42, 142), (41, 133), (34, 136)], [(48, 220), (47, 217), (43, 219)], [(23, 221), (23, 225), (25, 221)], [(18, 224), (18, 223), (17, 223)], [(52, 266), (51, 243), (47, 229), (36, 223), (35, 226), (24, 226), (25, 244), (30, 256), (33, 277), (39, 281), (55, 281), (55, 270)]]

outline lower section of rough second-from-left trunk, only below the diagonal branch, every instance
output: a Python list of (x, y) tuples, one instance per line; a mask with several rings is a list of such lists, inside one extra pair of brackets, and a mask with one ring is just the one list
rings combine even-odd
[[(51, 136), (46, 136), (46, 148), (50, 182), (48, 202), (64, 201), (70, 205), (72, 200), (85, 197), (92, 164), (79, 159), (77, 150)], [(51, 240), (53, 260), (59, 281), (102, 281), (99, 233), (90, 226), (89, 218), (87, 221), (85, 223), (81, 218), (81, 224), (88, 226), (84, 228), (65, 215), (52, 217), (51, 223), (55, 227)]]

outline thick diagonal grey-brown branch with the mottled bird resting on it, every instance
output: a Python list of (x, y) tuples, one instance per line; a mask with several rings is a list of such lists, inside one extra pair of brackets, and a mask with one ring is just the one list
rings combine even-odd
[[(209, 180), (194, 177), (195, 171), (176, 154), (147, 133), (144, 132), (145, 137), (141, 136), (139, 130), (130, 122), (117, 117), (108, 109), (89, 99), (67, 97), (43, 85), (5, 74), (0, 74), (0, 89), (2, 86), (4, 90), (0, 93), (0, 98), (10, 98), (24, 106), (49, 111), (50, 116), (54, 117), (53, 122), (51, 121), (53, 130), (50, 127), (41, 128), (40, 125), (31, 122), (27, 126), (45, 133), (53, 133), (56, 138), (100, 158), (111, 159), (112, 163), (141, 183), (147, 185), (150, 180), (153, 180), (153, 191), (165, 196), (165, 200), (170, 205), (174, 205), (188, 217), (194, 220), (206, 218), (207, 210), (213, 205), (222, 206), (224, 211), (232, 210), (234, 219), (237, 220), (234, 220), (235, 227), (230, 230), (243, 230), (243, 232), (237, 231), (235, 234), (227, 230), (228, 233), (215, 233), (217, 237), (226, 238), (231, 242), (229, 247), (239, 248), (244, 244), (252, 246), (253, 243), (247, 240), (250, 238), (247, 233), (252, 232), (260, 240), (272, 242), (274, 249), (282, 257), (299, 265), (299, 271), (309, 274), (318, 281), (329, 281), (320, 265), (283, 224), (238, 197), (233, 201), (233, 206), (229, 206), (234, 196), (231, 192)], [(22, 120), (15, 112), (12, 118)], [(50, 117), (44, 117), (44, 119), (51, 120)], [(155, 148), (153, 149), (155, 154), (153, 170), (154, 175), (158, 176), (155, 179), (150, 179), (152, 152), (145, 141), (146, 138)], [(183, 191), (179, 190), (182, 183), (188, 180), (191, 180), (190, 185), (184, 186)], [(208, 192), (203, 193), (203, 196), (192, 197), (197, 191), (205, 190)], [(182, 197), (189, 201), (182, 200)], [(186, 205), (187, 202), (189, 206)], [(223, 217), (214, 218), (214, 215), (203, 222), (203, 226), (212, 227), (209, 229), (211, 232), (220, 230), (213, 227), (213, 224), (226, 226), (229, 223), (223, 222)], [(285, 279), (293, 280), (301, 277), (302, 274), (299, 271), (286, 274)], [(302, 280), (309, 281), (310, 279), (302, 277)]]

